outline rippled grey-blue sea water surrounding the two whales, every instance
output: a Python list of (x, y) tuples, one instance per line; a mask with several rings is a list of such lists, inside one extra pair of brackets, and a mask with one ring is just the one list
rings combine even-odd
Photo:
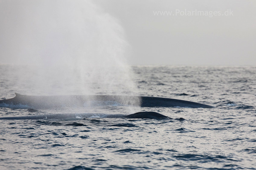
[[(49, 91), (44, 79), (34, 81), (40, 74), (33, 69), (0, 65), (0, 99), (13, 98), (14, 92), (62, 94), (58, 89), (65, 87), (66, 94), (62, 95), (80, 92), (74, 90), (74, 82), (64, 79), (60, 84), (58, 76), (47, 83), (55, 89)], [(0, 120), (0, 169), (256, 169), (255, 66), (134, 66), (132, 71), (137, 86), (134, 95), (216, 107), (109, 104), (30, 112), (26, 106), (1, 105), (0, 117), (78, 112), (95, 115), (68, 120)], [(90, 94), (108, 93), (108, 89), (93, 87)], [(118, 87), (119, 91), (127, 90)], [(156, 111), (173, 119), (104, 118), (98, 114), (138, 111)]]

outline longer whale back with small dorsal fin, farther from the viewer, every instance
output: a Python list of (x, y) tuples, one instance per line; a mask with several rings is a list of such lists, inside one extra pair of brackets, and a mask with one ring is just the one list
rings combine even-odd
[(58, 108), (90, 105), (123, 105), (140, 107), (191, 107), (213, 108), (214, 106), (178, 100), (149, 96), (114, 96), (114, 95), (70, 95), (70, 96), (28, 96), (15, 93), (14, 98), (0, 100), (0, 107), (24, 105), (32, 109)]

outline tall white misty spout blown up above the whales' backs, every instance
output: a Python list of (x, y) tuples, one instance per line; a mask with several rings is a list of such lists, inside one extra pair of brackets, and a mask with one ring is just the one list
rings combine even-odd
[(136, 94), (124, 30), (91, 1), (8, 0), (0, 10), (2, 54), (34, 73), (17, 82), (34, 84), (31, 95)]

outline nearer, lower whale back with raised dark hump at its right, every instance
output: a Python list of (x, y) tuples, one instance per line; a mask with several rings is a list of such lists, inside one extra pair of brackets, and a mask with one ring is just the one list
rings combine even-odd
[(138, 112), (130, 115), (121, 114), (102, 114), (102, 113), (56, 113), (45, 115), (29, 115), (29, 116), (12, 116), (12, 117), (0, 117), (0, 120), (20, 120), (20, 119), (82, 119), (82, 118), (128, 118), (128, 119), (164, 119), (168, 116), (162, 115), (154, 111)]

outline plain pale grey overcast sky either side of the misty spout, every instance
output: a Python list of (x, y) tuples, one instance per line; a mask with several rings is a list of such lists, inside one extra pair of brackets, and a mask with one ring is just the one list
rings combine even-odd
[[(28, 8), (25, 15), (22, 2), (0, 0), (0, 63), (26, 55), (19, 53), (23, 41), (16, 41), (20, 30), (14, 28), (32, 14)], [(92, 2), (123, 27), (129, 64), (256, 65), (256, 0)]]

